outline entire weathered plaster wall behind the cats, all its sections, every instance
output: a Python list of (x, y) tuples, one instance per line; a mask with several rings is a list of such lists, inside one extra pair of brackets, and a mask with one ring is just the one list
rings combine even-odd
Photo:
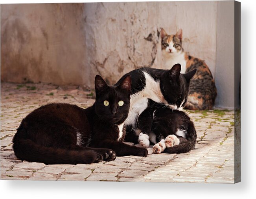
[(221, 12), (216, 1), (1, 5), (1, 80), (93, 88), (100, 74), (112, 84), (142, 66), (162, 68), (157, 30), (182, 28), (185, 51), (212, 71), (217, 105), (231, 107), (223, 96), (234, 83), (225, 61), (234, 40), (223, 19), (232, 13)]

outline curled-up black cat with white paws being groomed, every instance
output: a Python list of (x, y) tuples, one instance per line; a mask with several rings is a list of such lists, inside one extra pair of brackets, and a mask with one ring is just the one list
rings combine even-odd
[(138, 117), (138, 129), (149, 132), (154, 153), (186, 153), (195, 147), (197, 139), (194, 124), (186, 113), (151, 99)]

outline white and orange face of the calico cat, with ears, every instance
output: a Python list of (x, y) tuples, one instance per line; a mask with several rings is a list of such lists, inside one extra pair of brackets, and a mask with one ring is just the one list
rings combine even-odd
[(176, 35), (168, 35), (166, 31), (162, 28), (160, 35), (162, 39), (162, 51), (169, 55), (173, 55), (175, 53), (180, 53), (183, 51), (182, 29), (179, 29)]

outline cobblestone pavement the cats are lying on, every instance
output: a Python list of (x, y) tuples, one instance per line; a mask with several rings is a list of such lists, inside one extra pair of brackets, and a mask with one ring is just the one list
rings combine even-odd
[(185, 154), (152, 154), (151, 146), (147, 157), (76, 165), (46, 165), (15, 157), (13, 135), (29, 112), (49, 102), (87, 108), (94, 102), (92, 95), (76, 86), (1, 83), (1, 179), (234, 183), (234, 111), (228, 110), (190, 111), (197, 144)]

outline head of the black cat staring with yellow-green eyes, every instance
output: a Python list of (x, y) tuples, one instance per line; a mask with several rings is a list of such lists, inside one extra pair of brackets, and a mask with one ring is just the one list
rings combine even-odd
[(96, 75), (95, 91), (95, 111), (99, 119), (111, 124), (122, 124), (130, 108), (131, 76), (127, 75), (118, 86), (108, 86)]

